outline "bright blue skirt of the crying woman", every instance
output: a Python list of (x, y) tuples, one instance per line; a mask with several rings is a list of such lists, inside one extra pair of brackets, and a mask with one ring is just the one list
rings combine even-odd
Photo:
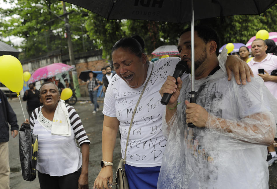
[(135, 167), (125, 164), (130, 189), (156, 189), (161, 166)]

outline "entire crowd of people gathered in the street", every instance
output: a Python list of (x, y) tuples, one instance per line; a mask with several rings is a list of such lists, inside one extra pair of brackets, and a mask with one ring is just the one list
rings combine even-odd
[[(114, 44), (111, 58), (116, 73), (110, 66), (102, 68), (102, 81), (93, 71), (88, 73), (93, 114), (99, 108), (98, 88), (103, 85), (105, 92), (102, 168), (93, 188), (108, 189), (107, 183), (114, 179), (118, 130), (130, 189), (268, 188), (267, 167), (277, 162), (273, 145), (277, 76), (270, 75), (277, 69), (277, 46), (270, 40), (254, 40), (254, 58), (247, 64), (246, 46), (239, 48), (239, 58), (228, 56), (226, 49), (219, 54), (219, 37), (213, 29), (198, 26), (194, 32), (196, 103), (189, 102), (190, 28), (178, 36), (180, 57), (150, 62), (144, 40), (135, 35)], [(186, 73), (175, 79), (171, 75), (181, 60)], [(30, 84), (23, 97), (30, 117), (25, 123), (39, 138), (40, 187), (88, 188), (90, 141), (76, 110), (60, 99), (62, 88), (70, 86), (68, 80), (65, 87), (61, 84), (56, 79), (39, 90)], [(172, 94), (166, 106), (160, 103), (164, 93)], [(0, 108), (5, 118), (0, 125), (0, 160), (7, 162), (8, 122), (13, 137), (18, 125), (1, 91)], [(9, 188), (8, 177), (9, 165), (0, 163), (0, 188)]]

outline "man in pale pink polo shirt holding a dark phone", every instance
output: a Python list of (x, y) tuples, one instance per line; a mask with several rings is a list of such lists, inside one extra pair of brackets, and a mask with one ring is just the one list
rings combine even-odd
[[(251, 51), (254, 55), (254, 58), (252, 58), (248, 65), (252, 69), (254, 75), (259, 75), (261, 78), (263, 78), (265, 86), (277, 99), (277, 76), (270, 75), (274, 69), (277, 69), (277, 56), (267, 54), (265, 52), (266, 50), (267, 46), (265, 41), (263, 39), (255, 39), (251, 45)], [(259, 73), (259, 69), (263, 69), (264, 73)], [(273, 144), (268, 146), (267, 150), (269, 151), (267, 156), (267, 164), (270, 166), (274, 162), (277, 162), (277, 154)]]

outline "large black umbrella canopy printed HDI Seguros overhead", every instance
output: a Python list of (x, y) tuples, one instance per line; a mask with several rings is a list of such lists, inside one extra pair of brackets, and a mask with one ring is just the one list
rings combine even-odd
[[(65, 0), (107, 20), (136, 19), (172, 23), (191, 20), (191, 0)], [(194, 19), (261, 14), (277, 0), (194, 0)]]

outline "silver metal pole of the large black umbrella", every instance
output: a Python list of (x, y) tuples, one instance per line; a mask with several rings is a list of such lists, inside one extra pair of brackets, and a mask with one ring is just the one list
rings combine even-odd
[[(194, 91), (194, 6), (193, 6), (193, 1), (191, 0), (192, 4), (192, 16), (191, 16), (191, 22), (190, 22), (190, 27), (191, 27), (191, 42), (192, 42), (192, 91), (189, 93), (191, 94), (190, 97), (190, 103), (196, 103), (196, 98), (195, 98), (195, 91)], [(194, 124), (188, 123), (188, 127), (195, 127)]]

